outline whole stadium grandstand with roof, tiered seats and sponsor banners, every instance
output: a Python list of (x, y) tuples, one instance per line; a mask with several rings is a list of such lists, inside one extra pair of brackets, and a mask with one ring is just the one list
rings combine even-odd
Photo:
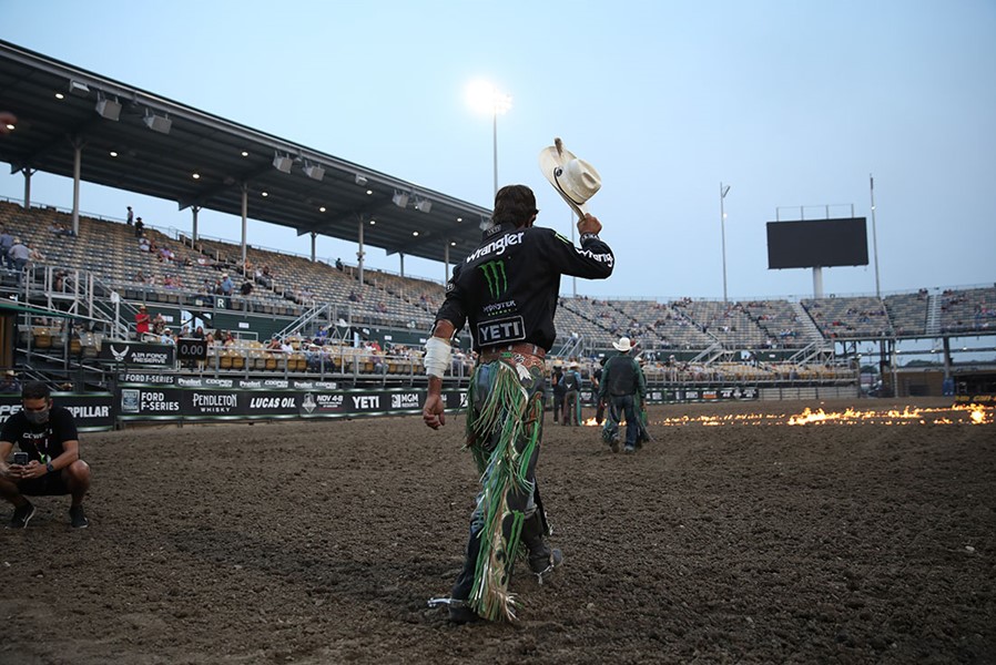
[[(364, 246), (437, 260), (448, 274), (489, 211), (7, 42), (0, 90), (26, 119), (0, 141), (0, 161), (26, 183), (22, 200), (0, 201), (0, 225), (34, 252), (22, 269), (0, 272), (4, 369), (73, 395), (105, 395), (115, 419), (417, 411), (421, 347), (443, 280), (367, 269)], [(132, 152), (84, 155), (84, 143)], [(196, 180), (186, 166), (194, 163)], [(176, 201), (191, 209), (191, 231), (136, 231), (79, 204), (32, 202), (39, 170)], [(250, 204), (261, 192), (268, 195)], [(202, 208), (241, 216), (242, 236), (200, 235)], [(331, 264), (314, 249), (254, 246), (250, 215), (313, 241), (355, 242), (359, 259)], [(996, 374), (992, 362), (969, 371), (954, 360), (993, 350), (994, 285), (731, 303), (561, 296), (556, 324), (550, 370), (578, 361), (588, 379), (627, 336), (655, 401), (857, 397), (867, 348), (883, 393), (992, 392)], [(941, 346), (941, 369), (906, 371), (897, 361), (904, 345), (925, 340), (932, 351)], [(461, 341), (447, 379), (454, 400), (474, 362), (466, 332)], [(287, 391), (289, 401), (246, 399), (234, 409), (237, 396), (217, 393), (234, 389)], [(591, 399), (590, 386), (583, 397)]]

